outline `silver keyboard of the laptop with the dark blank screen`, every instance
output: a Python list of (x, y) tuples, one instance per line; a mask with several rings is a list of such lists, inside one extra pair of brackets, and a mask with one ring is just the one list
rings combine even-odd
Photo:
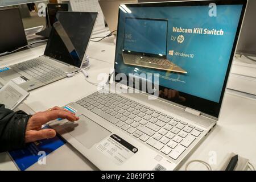
[(22, 63), (14, 64), (13, 66), (43, 83), (66, 74), (61, 71), (61, 69), (57, 69), (40, 59), (31, 59)]

